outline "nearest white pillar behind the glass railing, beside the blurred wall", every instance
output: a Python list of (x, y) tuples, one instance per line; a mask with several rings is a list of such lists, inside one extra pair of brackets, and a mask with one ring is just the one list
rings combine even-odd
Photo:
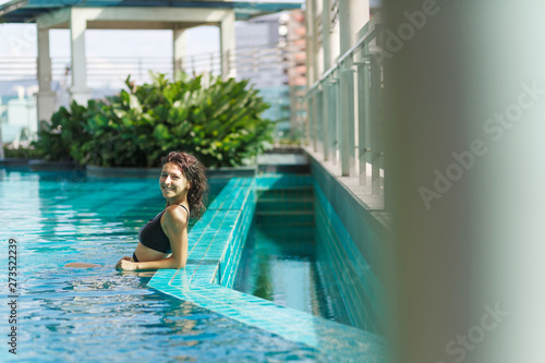
[[(339, 1), (339, 44), (340, 55), (344, 55), (358, 40), (358, 32), (370, 20), (368, 0)], [(340, 159), (343, 177), (354, 174), (356, 171), (355, 157), (355, 112), (352, 62), (341, 65), (340, 90), (343, 97), (340, 107)], [(344, 97), (346, 95), (346, 97)]]

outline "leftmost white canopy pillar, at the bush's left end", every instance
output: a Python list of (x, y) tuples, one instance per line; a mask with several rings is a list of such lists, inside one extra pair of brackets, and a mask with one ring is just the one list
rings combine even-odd
[(51, 58), (49, 56), (49, 29), (38, 28), (38, 130), (41, 129), (40, 121), (49, 122), (56, 111), (56, 94), (51, 90)]

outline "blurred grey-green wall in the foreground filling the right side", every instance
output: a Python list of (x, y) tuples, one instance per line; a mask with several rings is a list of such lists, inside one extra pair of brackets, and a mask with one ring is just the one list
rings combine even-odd
[(396, 362), (545, 362), (545, 3), (384, 1)]

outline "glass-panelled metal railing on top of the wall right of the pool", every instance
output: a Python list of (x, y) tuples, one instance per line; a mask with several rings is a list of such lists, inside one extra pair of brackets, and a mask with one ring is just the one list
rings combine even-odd
[(375, 15), (356, 44), (306, 93), (310, 145), (324, 160), (340, 165), (343, 177), (371, 183), (372, 194), (384, 187), (379, 28)]

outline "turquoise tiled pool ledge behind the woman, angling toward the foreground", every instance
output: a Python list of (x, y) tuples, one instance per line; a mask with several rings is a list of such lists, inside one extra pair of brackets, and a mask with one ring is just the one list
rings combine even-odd
[(256, 204), (256, 189), (310, 185), (307, 177), (231, 179), (190, 232), (186, 267), (158, 270), (148, 286), (243, 324), (326, 351), (339, 362), (384, 361), (382, 338), (231, 290)]

